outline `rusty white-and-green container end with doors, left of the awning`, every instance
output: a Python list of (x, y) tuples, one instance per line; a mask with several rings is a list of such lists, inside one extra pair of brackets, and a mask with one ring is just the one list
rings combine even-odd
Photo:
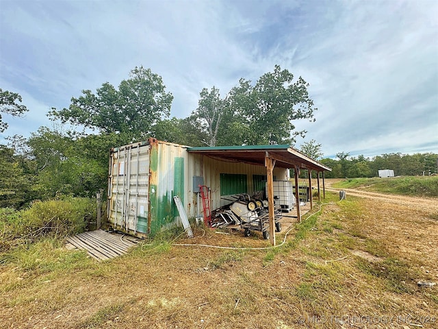
[[(188, 154), (185, 147), (150, 138), (112, 149), (108, 219), (133, 234), (156, 234), (178, 224), (173, 197), (187, 199)], [(185, 208), (188, 206), (184, 203)]]

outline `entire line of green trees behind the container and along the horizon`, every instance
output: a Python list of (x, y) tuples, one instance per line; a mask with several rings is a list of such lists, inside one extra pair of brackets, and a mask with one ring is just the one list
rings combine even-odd
[[(136, 67), (118, 87), (105, 82), (95, 93), (83, 90), (79, 97), (72, 97), (68, 108), (52, 108), (47, 115), (53, 127), (40, 127), (29, 138), (11, 136), (7, 145), (0, 145), (0, 207), (21, 208), (35, 199), (92, 197), (101, 189), (106, 191), (110, 148), (149, 136), (189, 146), (293, 145), (297, 136), (307, 133), (297, 131), (294, 122), (315, 120), (317, 108), (308, 87), (302, 77), (294, 80), (292, 73), (276, 65), (254, 83), (240, 79), (225, 95), (216, 86), (203, 88), (197, 108), (178, 119), (170, 117), (173, 95), (166, 91), (162, 77)], [(21, 116), (27, 111), (21, 101), (20, 95), (0, 89), (0, 112)], [(73, 128), (66, 130), (65, 123)], [(7, 127), (0, 116), (0, 132)], [(318, 159), (320, 149), (311, 141), (300, 150)], [(396, 171), (385, 162), (386, 156), (378, 164), (376, 158), (339, 155), (339, 160), (321, 160), (333, 168), (327, 177), (375, 175), (374, 162)], [(424, 155), (427, 160), (418, 161), (428, 166), (430, 157)], [(427, 166), (423, 170), (429, 170)]]

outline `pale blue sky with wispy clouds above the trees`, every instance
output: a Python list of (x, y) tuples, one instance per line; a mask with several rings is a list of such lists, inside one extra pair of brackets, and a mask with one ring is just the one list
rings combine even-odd
[(135, 66), (162, 75), (172, 116), (202, 88), (225, 95), (281, 65), (318, 111), (296, 147), (324, 156), (438, 153), (438, 1), (0, 0), (0, 88), (29, 112), (2, 135), (52, 127), (81, 90), (118, 86)]

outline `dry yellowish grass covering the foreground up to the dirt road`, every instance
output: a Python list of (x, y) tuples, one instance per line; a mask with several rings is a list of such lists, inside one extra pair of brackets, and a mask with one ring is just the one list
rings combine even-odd
[[(52, 241), (2, 256), (0, 319), (3, 328), (436, 328), (437, 286), (417, 287), (438, 281), (436, 241), (428, 210), (353, 197), (267, 251), (164, 243), (96, 263)], [(268, 245), (212, 231), (179, 242)]]

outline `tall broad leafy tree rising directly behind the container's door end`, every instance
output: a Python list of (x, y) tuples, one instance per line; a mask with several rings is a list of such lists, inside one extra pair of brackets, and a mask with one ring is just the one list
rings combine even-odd
[(83, 95), (73, 97), (69, 108), (53, 110), (49, 115), (104, 134), (118, 132), (127, 140), (144, 139), (153, 125), (170, 115), (173, 96), (165, 88), (162, 77), (136, 66), (118, 89), (105, 82), (96, 94), (82, 90)]

